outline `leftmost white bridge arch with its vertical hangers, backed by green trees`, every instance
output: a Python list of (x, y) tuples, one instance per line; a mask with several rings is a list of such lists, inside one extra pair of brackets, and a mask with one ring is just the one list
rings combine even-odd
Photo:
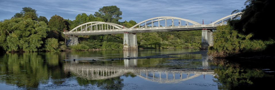
[[(104, 27), (103, 27), (103, 24), (104, 24)], [(75, 27), (74, 29), (70, 30), (69, 32), (77, 31), (77, 28), (80, 28), (80, 31), (88, 30), (88, 28), (90, 28), (90, 30), (92, 30), (93, 26), (95, 26), (95, 30), (97, 30), (98, 25), (99, 25), (99, 30), (112, 29), (111, 27), (113, 27), (113, 29), (114, 28), (116, 28), (116, 29), (126, 28), (124, 26), (121, 26), (121, 25), (115, 24), (115, 23), (95, 21), (95, 22), (87, 22), (87, 23), (81, 24), (81, 25)], [(84, 27), (83, 29), (82, 29), (82, 26)], [(107, 26), (107, 28), (106, 28), (106, 26)]]

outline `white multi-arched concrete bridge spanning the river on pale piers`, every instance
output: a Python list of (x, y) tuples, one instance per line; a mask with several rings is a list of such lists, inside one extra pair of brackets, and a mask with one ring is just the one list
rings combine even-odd
[(68, 41), (66, 41), (67, 45), (74, 45), (78, 44), (77, 36), (80, 35), (103, 35), (124, 33), (123, 50), (138, 50), (136, 33), (201, 30), (201, 49), (207, 49), (208, 46), (213, 46), (214, 44), (212, 36), (213, 30), (215, 30), (217, 26), (226, 24), (228, 20), (232, 20), (235, 16), (236, 18), (241, 17), (239, 13), (235, 13), (223, 17), (211, 24), (200, 24), (195, 21), (182, 19), (178, 17), (154, 17), (139, 22), (131, 28), (126, 28), (122, 25), (110, 22), (95, 21), (81, 24), (73, 28), (69, 32), (63, 32), (63, 34), (69, 36), (70, 38)]

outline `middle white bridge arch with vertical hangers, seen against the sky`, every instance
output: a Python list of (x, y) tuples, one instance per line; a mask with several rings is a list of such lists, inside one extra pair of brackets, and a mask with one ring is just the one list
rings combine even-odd
[[(155, 19), (157, 19), (157, 20), (155, 20)], [(136, 27), (136, 26), (139, 26), (139, 28), (142, 28), (142, 27), (145, 27), (145, 26), (147, 26), (147, 25), (149, 25), (149, 24), (152, 24), (152, 23), (154, 23), (154, 22), (159, 22), (159, 21), (162, 21), (162, 20), (170, 20), (170, 19), (178, 19), (178, 20), (182, 20), (182, 21), (186, 21), (186, 22), (190, 22), (190, 23), (192, 23), (192, 24), (194, 24), (194, 25), (200, 25), (200, 23), (198, 23), (198, 22), (195, 22), (195, 21), (191, 21), (191, 20), (188, 20), (188, 19), (182, 19), (182, 18), (178, 18), (178, 17), (154, 17), (154, 18), (151, 18), (151, 19), (147, 19), (147, 20), (144, 20), (144, 21), (142, 21), (142, 22), (139, 22), (138, 24), (136, 24), (136, 25), (134, 25), (134, 26), (132, 26), (131, 28), (134, 28), (134, 27)], [(149, 22), (148, 22), (149, 21)], [(147, 23), (148, 22), (148, 23)], [(143, 24), (143, 23), (145, 23), (143, 26), (141, 26), (140, 27), (140, 24)], [(180, 21), (179, 21), (179, 23), (180, 23)], [(172, 25), (174, 24), (174, 22), (172, 23)], [(153, 25), (152, 25), (153, 26)]]

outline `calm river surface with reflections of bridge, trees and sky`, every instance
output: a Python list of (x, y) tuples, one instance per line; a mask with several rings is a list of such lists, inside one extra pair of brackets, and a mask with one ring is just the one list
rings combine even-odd
[(274, 82), (272, 69), (272, 65), (244, 66), (227, 60), (209, 60), (205, 51), (199, 49), (7, 53), (0, 56), (0, 87), (1, 90), (243, 89), (274, 84), (267, 83)]

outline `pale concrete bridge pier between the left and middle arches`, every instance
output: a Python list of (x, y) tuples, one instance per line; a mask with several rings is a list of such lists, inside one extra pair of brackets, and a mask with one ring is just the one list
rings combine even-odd
[(138, 50), (136, 34), (124, 33), (123, 50)]

